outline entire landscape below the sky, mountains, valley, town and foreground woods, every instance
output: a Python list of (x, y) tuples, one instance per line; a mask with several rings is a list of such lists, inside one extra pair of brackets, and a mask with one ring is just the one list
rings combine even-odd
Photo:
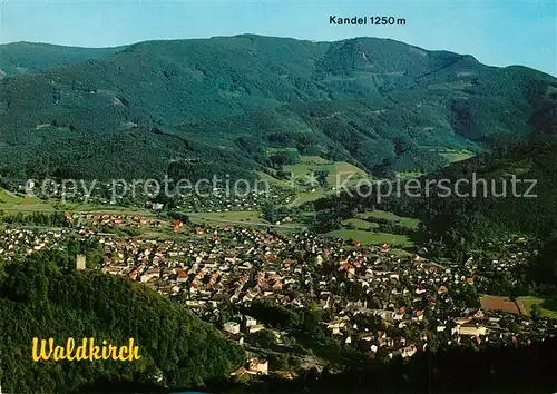
[[(555, 77), (365, 37), (0, 56), (10, 392), (553, 384)], [(538, 195), (424, 186), (476, 175)], [(38, 335), (144, 357), (32, 363)]]

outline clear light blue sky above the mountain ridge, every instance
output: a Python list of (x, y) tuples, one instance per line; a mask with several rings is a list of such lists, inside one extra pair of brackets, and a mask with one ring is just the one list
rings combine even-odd
[[(240, 33), (317, 41), (367, 36), (557, 76), (555, 1), (0, 0), (0, 12), (2, 43), (114, 47)], [(330, 16), (392, 16), (405, 24), (331, 26)]]

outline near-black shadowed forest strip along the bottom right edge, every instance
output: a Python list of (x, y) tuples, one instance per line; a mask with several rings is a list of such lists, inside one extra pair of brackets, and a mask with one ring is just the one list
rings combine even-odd
[[(555, 338), (527, 347), (491, 346), (482, 351), (453, 348), (422, 352), (410, 361), (368, 361), (341, 373), (310, 370), (289, 381), (268, 376), (250, 385), (226, 380), (199, 388), (212, 394), (364, 394), (364, 393), (554, 393)], [(179, 393), (192, 386), (163, 388), (154, 384), (100, 381), (86, 393)]]

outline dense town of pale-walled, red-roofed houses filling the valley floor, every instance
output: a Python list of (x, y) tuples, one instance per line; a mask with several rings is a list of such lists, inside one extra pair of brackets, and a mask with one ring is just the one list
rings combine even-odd
[[(149, 225), (139, 216), (92, 215), (87, 223)], [(147, 220), (144, 223), (144, 220)], [(172, 226), (155, 220), (156, 226)], [(557, 333), (557, 322), (482, 307), (478, 283), (494, 270), (525, 264), (531, 253), (520, 239), (500, 248), (492, 264), (470, 258), (465, 265), (441, 265), (419, 255), (400, 254), (389, 245), (367, 246), (311, 233), (276, 234), (215, 225), (183, 226), (187, 238), (162, 239), (99, 234), (81, 228), (102, 245), (101, 269), (176, 296), (199, 315), (218, 314), (223, 304), (250, 306), (264, 299), (300, 311), (324, 312), (320, 325), (343, 346), (378, 357), (411, 357), (428, 346), (529, 344)], [(57, 245), (67, 230), (4, 229), (0, 254), (41, 250)], [(500, 263), (499, 263), (500, 262)], [(85, 267), (78, 256), (77, 266)], [(478, 305), (476, 305), (478, 304)], [(223, 331), (238, 344), (264, 329), (244, 316)], [(268, 363), (252, 359), (237, 374), (266, 374)]]

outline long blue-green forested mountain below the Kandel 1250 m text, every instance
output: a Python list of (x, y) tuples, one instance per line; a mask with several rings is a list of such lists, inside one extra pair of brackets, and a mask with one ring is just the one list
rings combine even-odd
[(264, 165), (268, 146), (370, 171), (429, 171), (448, 164), (433, 148), (478, 152), (524, 138), (544, 121), (537, 99), (557, 87), (524, 67), (375, 38), (244, 35), (97, 55), (2, 80), (4, 175), (109, 177), (106, 168), (141, 162), (125, 174), (146, 176), (205, 150), (234, 156), (212, 165), (235, 173)]

